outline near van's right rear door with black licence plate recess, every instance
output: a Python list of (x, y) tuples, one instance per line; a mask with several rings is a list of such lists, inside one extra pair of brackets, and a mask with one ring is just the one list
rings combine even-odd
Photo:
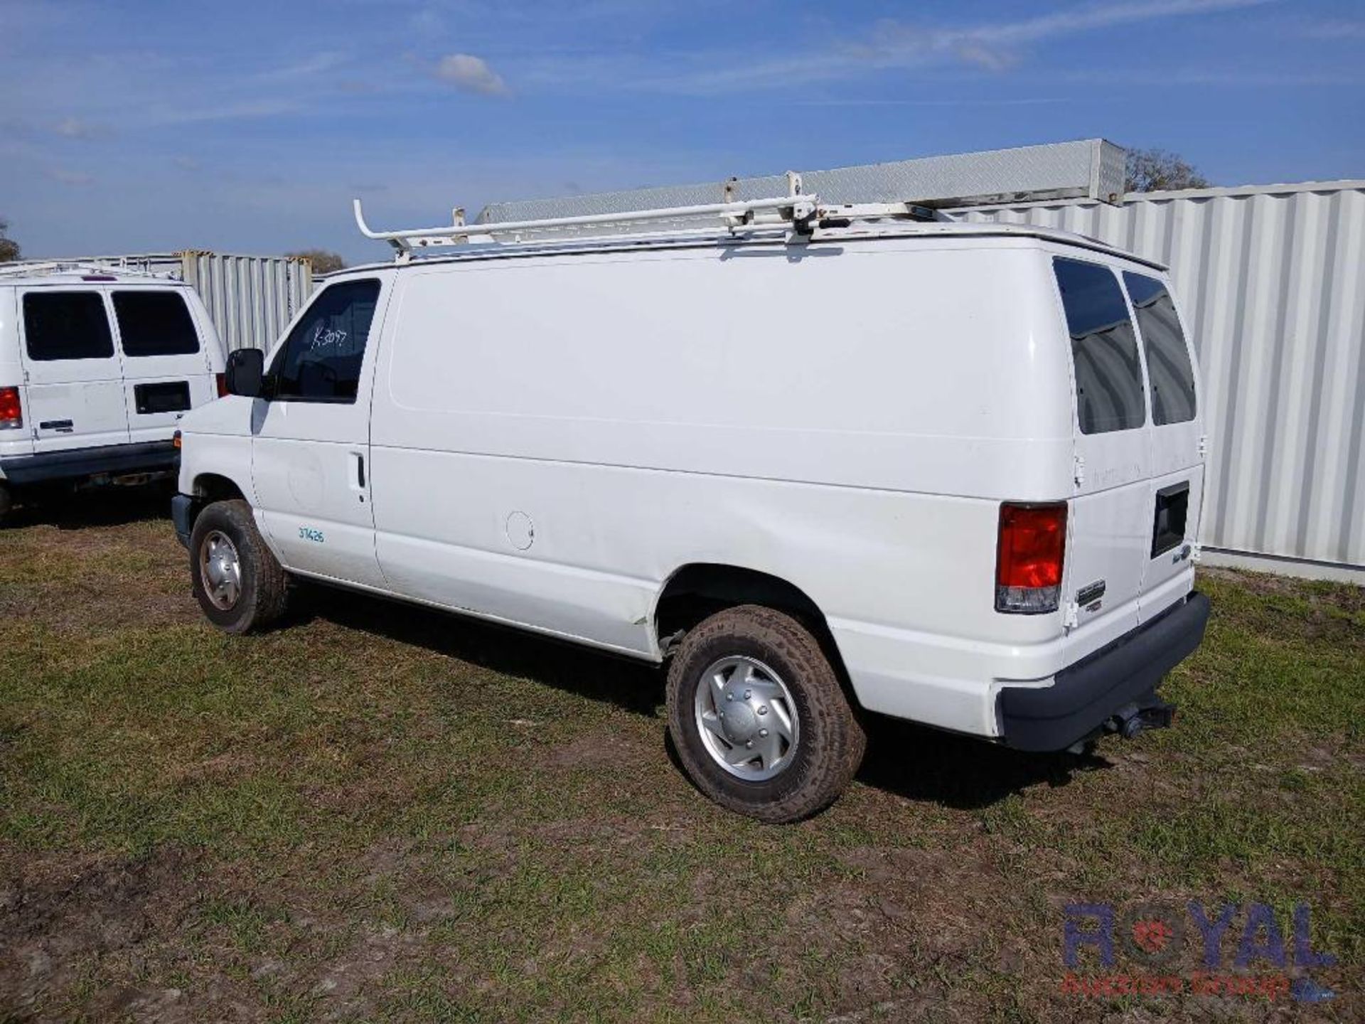
[(1203, 421), (1194, 360), (1167, 287), (1148, 274), (1123, 272), (1123, 285), (1143, 341), (1151, 393), (1151, 547), (1143, 573), (1138, 618), (1159, 614), (1189, 588), (1182, 579), (1204, 500)]

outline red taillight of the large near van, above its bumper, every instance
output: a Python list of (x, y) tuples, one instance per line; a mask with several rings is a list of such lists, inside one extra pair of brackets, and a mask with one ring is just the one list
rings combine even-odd
[(1066, 502), (1001, 505), (995, 554), (995, 610), (1055, 612), (1062, 595)]

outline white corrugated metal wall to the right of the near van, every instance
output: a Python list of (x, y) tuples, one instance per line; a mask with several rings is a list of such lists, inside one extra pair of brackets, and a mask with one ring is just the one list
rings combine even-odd
[(1365, 182), (953, 210), (1171, 268), (1204, 374), (1203, 543), (1365, 568)]

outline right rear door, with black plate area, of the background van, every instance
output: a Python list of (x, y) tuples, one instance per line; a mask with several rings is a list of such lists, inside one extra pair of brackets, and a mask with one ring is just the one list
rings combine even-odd
[(217, 385), (180, 288), (112, 288), (132, 441), (169, 440), (186, 410)]

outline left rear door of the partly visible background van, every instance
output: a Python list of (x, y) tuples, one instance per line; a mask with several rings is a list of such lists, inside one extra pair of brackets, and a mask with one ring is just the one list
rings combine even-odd
[(27, 288), (19, 296), (25, 425), (35, 455), (128, 441), (106, 302), (104, 289), (90, 285)]

